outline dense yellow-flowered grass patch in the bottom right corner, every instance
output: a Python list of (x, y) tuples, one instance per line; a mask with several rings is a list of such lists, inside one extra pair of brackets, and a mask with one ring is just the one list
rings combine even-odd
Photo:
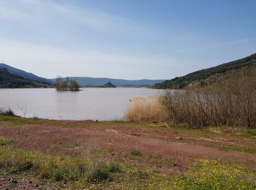
[(255, 189), (255, 171), (200, 159), (184, 175), (153, 176), (143, 189)]

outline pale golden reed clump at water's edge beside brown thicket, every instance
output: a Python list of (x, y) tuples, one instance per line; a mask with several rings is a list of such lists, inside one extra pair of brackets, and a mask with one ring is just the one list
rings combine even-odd
[(168, 113), (160, 96), (136, 97), (130, 101), (126, 121), (167, 122)]

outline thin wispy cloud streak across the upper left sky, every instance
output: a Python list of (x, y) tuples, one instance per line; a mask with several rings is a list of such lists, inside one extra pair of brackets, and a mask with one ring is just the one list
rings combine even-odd
[(122, 18), (108, 12), (72, 4), (57, 4), (53, 1), (42, 0), (3, 0), (0, 2), (0, 18), (15, 21), (19, 24), (45, 30), (52, 24), (67, 22), (78, 27), (92, 28), (105, 32), (124, 32), (129, 34), (148, 34), (154, 28), (137, 23), (134, 20)]

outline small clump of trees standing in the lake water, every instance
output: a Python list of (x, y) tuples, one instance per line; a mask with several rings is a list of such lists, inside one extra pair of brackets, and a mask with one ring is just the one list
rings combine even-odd
[(56, 77), (56, 90), (57, 91), (79, 91), (80, 86), (76, 80), (69, 80), (69, 77), (62, 78)]

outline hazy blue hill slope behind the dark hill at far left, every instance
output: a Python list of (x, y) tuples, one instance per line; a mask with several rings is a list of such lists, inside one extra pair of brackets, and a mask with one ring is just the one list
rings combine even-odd
[(10, 72), (11, 74), (14, 74), (14, 75), (19, 75), (21, 77), (26, 77), (26, 78), (29, 78), (31, 80), (37, 80), (39, 82), (42, 82), (42, 83), (53, 83), (52, 80), (48, 80), (44, 77), (38, 77), (37, 75), (34, 75), (30, 72), (25, 72), (23, 70), (20, 70), (20, 69), (16, 69), (15, 67), (12, 67), (12, 66), (9, 66), (7, 64), (1, 64), (0, 63), (0, 69), (7, 69), (8, 72)]

